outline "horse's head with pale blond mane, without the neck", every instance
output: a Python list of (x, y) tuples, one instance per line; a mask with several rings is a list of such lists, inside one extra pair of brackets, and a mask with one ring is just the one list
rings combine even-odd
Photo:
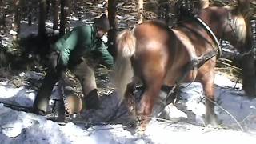
[(249, 0), (238, 0), (234, 7), (226, 6), (222, 39), (229, 41), (240, 52), (248, 52), (252, 48), (250, 29)]

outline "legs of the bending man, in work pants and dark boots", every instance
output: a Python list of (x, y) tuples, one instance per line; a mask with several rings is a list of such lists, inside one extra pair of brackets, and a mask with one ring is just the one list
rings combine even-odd
[[(42, 81), (42, 86), (38, 90), (38, 94), (34, 100), (34, 110), (46, 112), (48, 101), (54, 85), (60, 78), (65, 78), (66, 69), (58, 64), (58, 52), (50, 54), (50, 64), (46, 72), (46, 76)], [(98, 107), (97, 86), (94, 77), (94, 71), (87, 65), (84, 59), (71, 63), (68, 68), (78, 78), (82, 86), (84, 94), (84, 104), (86, 108)], [(85, 107), (85, 106), (84, 106)]]

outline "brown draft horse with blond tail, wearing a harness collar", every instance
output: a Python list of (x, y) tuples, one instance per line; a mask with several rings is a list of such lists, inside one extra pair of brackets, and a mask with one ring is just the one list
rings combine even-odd
[[(201, 10), (202, 19), (218, 39), (229, 41), (240, 51), (246, 43), (246, 13), (249, 1), (238, 6), (209, 7)], [(136, 83), (145, 86), (137, 114), (142, 118), (140, 130), (146, 130), (154, 102), (162, 85), (174, 86), (184, 76), (187, 63), (215, 49), (212, 35), (191, 18), (173, 29), (161, 22), (143, 22), (132, 31), (123, 30), (117, 37), (118, 56), (115, 63), (115, 85), (122, 99), (130, 101)], [(243, 49), (242, 49), (243, 48)], [(249, 49), (249, 48), (247, 48)], [(190, 70), (183, 82), (201, 82), (206, 95), (206, 124), (217, 125), (214, 113), (214, 66), (216, 56), (198, 69)]]

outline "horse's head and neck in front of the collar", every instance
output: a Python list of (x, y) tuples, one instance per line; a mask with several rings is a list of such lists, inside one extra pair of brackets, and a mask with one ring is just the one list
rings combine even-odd
[(249, 0), (238, 0), (237, 6), (210, 7), (199, 17), (205, 20), (217, 38), (226, 40), (240, 52), (248, 51), (250, 42)]

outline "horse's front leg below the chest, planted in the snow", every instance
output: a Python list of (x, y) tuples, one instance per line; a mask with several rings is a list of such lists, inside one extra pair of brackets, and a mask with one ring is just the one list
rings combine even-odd
[(218, 126), (217, 116), (214, 112), (214, 73), (206, 74), (202, 80), (202, 86), (206, 96), (206, 125)]

